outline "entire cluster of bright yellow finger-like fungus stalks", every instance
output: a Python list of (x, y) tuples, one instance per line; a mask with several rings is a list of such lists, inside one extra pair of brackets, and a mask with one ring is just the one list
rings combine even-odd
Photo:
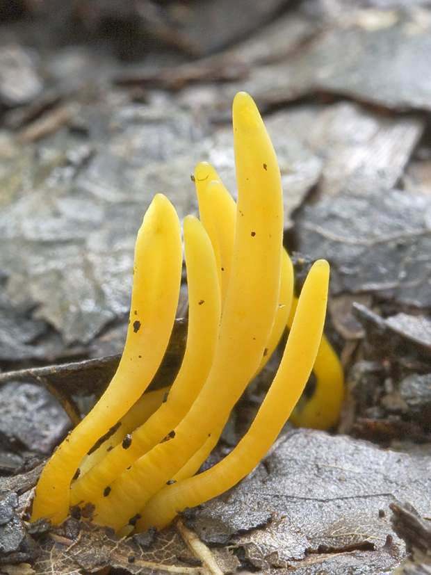
[[(136, 240), (129, 330), (117, 373), (44, 468), (32, 521), (60, 523), (71, 506), (91, 503), (95, 523), (126, 534), (162, 528), (178, 511), (224, 492), (267, 453), (316, 356), (316, 394), (296, 421), (320, 428), (336, 422), (341, 368), (327, 341), (320, 344), (329, 266), (316, 261), (300, 298), (293, 298), (279, 167), (245, 92), (234, 99), (233, 122), (238, 201), (211, 165), (200, 163), (200, 220), (184, 219), (188, 337), (177, 378), (170, 388), (144, 394), (168, 346), (181, 281), (179, 218), (158, 194)], [(224, 460), (195, 475), (286, 325), (282, 361), (250, 429)]]

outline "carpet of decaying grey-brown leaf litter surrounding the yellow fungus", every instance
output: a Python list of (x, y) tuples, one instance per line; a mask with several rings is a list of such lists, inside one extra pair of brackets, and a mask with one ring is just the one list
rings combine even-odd
[[(60, 528), (29, 528), (26, 523), (40, 467), (27, 470), (38, 462), (35, 454), (40, 457), (60, 440), (67, 417), (32, 445), (0, 437), (2, 455), (7, 452), (10, 461), (17, 457), (15, 467), (4, 473), (22, 470), (0, 484), (0, 571), (78, 574), (109, 565), (148, 574), (245, 568), (268, 574), (374, 575), (400, 566), (414, 547), (412, 529), (425, 542), (414, 559), (422, 553), (421, 568), (428, 569), (423, 559), (430, 547), (426, 519), (414, 519), (431, 514), (430, 206), (426, 195), (415, 195), (428, 186), (428, 172), (421, 169), (429, 160), (426, 139), (422, 156), (413, 156), (419, 138), (426, 136), (426, 116), (417, 111), (430, 109), (423, 74), (430, 28), (426, 8), (421, 14), (379, 15), (368, 10), (372, 4), (363, 10), (356, 3), (360, 10), (349, 9), (343, 19), (336, 2), (308, 2), (311, 14), (316, 8), (334, 8), (324, 14), (324, 26), (302, 8), (287, 14), (259, 33), (256, 51), (250, 52), (251, 38), (222, 54), (221, 67), (220, 55), (211, 56), (198, 63), (204, 72), (200, 78), (184, 67), (174, 86), (182, 88), (177, 95), (140, 88), (139, 82), (129, 91), (111, 85), (106, 90), (102, 84), (99, 92), (80, 92), (76, 79), (88, 77), (95, 60), (73, 48), (58, 51), (47, 74), (43, 63), (35, 65), (26, 50), (14, 48), (15, 62), (29, 83), (15, 95), (2, 86), (1, 97), (3, 105), (23, 112), (15, 130), (28, 125), (31, 130), (25, 133), (31, 138), (19, 144), (10, 131), (13, 116), (5, 117), (0, 134), (0, 357), (17, 371), (0, 374), (2, 391), (17, 382), (27, 384), (27, 378), (36, 380), (56, 389), (74, 416), (74, 396), (80, 402), (101, 391), (115, 358), (30, 370), (28, 362), (47, 364), (44, 359), (64, 359), (67, 353), (92, 357), (90, 346), (103, 348), (95, 335), (111, 322), (115, 331), (115, 321), (127, 311), (130, 286), (124, 277), (131, 268), (143, 191), (151, 197), (171, 186), (184, 213), (193, 210), (186, 183), (195, 163), (188, 152), (192, 148), (193, 156), (212, 153), (220, 175), (233, 181), (226, 161), (228, 136), (217, 122), (227, 120), (232, 93), (249, 89), (269, 112), (268, 127), (283, 156), (284, 183), (295, 190), (286, 210), (286, 225), (293, 222), (289, 239), (304, 256), (328, 257), (332, 264), (332, 289), (343, 311), (332, 311), (329, 334), (349, 374), (339, 429), (391, 449), (342, 435), (288, 432), (227, 494), (186, 512), (162, 533), (118, 541), (110, 530), (86, 519), (70, 519)], [(292, 34), (283, 44), (286, 31)], [(345, 58), (339, 58), (341, 53)], [(229, 62), (240, 65), (230, 69), (231, 76)], [(76, 73), (70, 74), (72, 64)], [(103, 74), (115, 69), (112, 60), (99, 64)], [(218, 82), (213, 83), (211, 70), (217, 65), (219, 73), (212, 78)], [(238, 73), (247, 77), (240, 81)], [(115, 74), (118, 78), (119, 71)], [(73, 79), (75, 92), (54, 91), (53, 96), (45, 78), (56, 78), (61, 90), (70, 90)], [(199, 86), (193, 85), (196, 80)], [(317, 101), (318, 94), (327, 100)], [(361, 104), (339, 102), (340, 94)], [(299, 96), (308, 101), (286, 106)], [(14, 109), (18, 99), (23, 107)], [(70, 99), (67, 122), (43, 123), (56, 118)], [(409, 112), (393, 113), (400, 109)], [(46, 111), (51, 116), (44, 119)], [(213, 124), (203, 119), (208, 111)], [(174, 174), (178, 181), (172, 180)], [(405, 186), (408, 193), (396, 186)], [(292, 215), (311, 190), (313, 202)], [(83, 262), (79, 270), (76, 261)], [(86, 306), (80, 309), (83, 294)], [(352, 308), (356, 296), (362, 307)], [(167, 371), (159, 374), (161, 381), (172, 377), (179, 358), (180, 350), (174, 350)], [(235, 435), (234, 425), (232, 430)], [(409, 526), (406, 535), (394, 521), (407, 551), (391, 529), (391, 510)]]

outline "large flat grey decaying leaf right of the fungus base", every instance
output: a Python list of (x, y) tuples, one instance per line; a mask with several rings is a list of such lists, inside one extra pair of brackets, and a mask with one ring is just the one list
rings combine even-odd
[(431, 457), (296, 430), (240, 485), (190, 512), (188, 524), (209, 544), (243, 549), (264, 572), (315, 573), (305, 566), (322, 561), (323, 572), (358, 563), (348, 572), (388, 572), (405, 556), (400, 540), (387, 542), (389, 504), (410, 501), (428, 517), (430, 471)]

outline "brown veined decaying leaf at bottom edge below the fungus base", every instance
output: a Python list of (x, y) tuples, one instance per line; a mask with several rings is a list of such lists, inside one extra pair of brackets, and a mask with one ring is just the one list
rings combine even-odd
[(239, 565), (231, 552), (211, 551), (181, 521), (152, 537), (120, 540), (111, 528), (69, 519), (44, 538), (41, 548), (33, 565), (37, 575), (96, 572), (107, 566), (131, 574), (223, 575)]

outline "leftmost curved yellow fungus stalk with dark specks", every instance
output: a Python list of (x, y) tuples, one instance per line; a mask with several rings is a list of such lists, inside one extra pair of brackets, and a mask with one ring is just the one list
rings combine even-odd
[(177, 212), (158, 194), (138, 232), (131, 312), (124, 353), (91, 414), (65, 439), (42, 471), (32, 521), (59, 523), (69, 512), (70, 482), (84, 455), (143, 394), (161, 363), (174, 324), (182, 244)]

